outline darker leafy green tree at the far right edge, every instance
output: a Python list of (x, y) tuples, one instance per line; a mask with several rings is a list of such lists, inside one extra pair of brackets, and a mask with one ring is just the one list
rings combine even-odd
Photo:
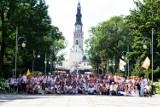
[[(130, 15), (127, 16), (127, 23), (132, 30), (133, 42), (132, 52), (129, 58), (134, 63), (135, 70), (142, 70), (142, 63), (144, 59), (149, 56), (151, 60), (151, 30), (154, 30), (154, 69), (158, 68), (160, 63), (160, 1), (159, 0), (143, 0), (135, 1), (136, 8), (131, 10)], [(143, 49), (143, 44), (147, 45), (147, 50)]]

